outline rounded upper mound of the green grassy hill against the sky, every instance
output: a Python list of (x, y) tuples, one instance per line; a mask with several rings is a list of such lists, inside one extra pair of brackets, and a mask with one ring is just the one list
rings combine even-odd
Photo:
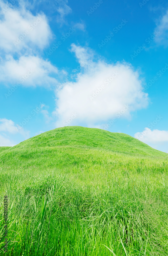
[(81, 126), (61, 127), (42, 133), (19, 143), (10, 151), (57, 146), (97, 148), (131, 155), (167, 156), (166, 153), (155, 150), (130, 135)]

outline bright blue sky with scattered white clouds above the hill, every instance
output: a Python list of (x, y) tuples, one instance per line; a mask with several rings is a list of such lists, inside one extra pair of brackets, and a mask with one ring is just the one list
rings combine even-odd
[(0, 146), (79, 125), (168, 152), (166, 1), (0, 8)]

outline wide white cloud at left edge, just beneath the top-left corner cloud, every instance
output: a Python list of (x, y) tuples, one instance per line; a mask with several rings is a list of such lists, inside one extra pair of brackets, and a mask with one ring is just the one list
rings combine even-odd
[(4, 83), (19, 82), (24, 86), (56, 85), (57, 74), (56, 67), (36, 56), (21, 56), (18, 60), (8, 56), (6, 61), (0, 63), (0, 81)]

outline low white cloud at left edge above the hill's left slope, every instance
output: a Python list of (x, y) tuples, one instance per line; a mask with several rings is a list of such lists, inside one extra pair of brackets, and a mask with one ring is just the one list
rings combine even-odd
[(25, 131), (23, 128), (19, 128), (12, 120), (6, 118), (0, 119), (0, 146), (14, 146), (13, 139), (10, 139), (12, 134), (20, 134), (24, 138), (29, 137), (29, 131)]

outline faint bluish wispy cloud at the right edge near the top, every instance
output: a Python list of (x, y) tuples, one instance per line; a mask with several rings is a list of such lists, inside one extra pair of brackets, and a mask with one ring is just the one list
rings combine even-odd
[(166, 14), (157, 22), (157, 27), (155, 30), (159, 31), (159, 35), (154, 38), (155, 42), (158, 44), (167, 45), (168, 39), (168, 10)]

